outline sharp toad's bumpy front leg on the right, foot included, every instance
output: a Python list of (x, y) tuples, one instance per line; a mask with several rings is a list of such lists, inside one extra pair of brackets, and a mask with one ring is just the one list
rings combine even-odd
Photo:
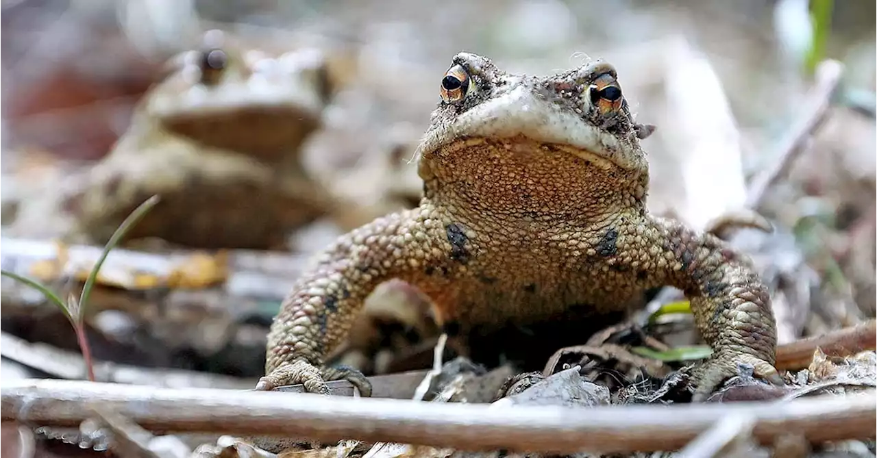
[[(695, 325), (713, 355), (694, 371), (695, 401), (709, 396), (752, 365), (755, 375), (774, 384), (776, 321), (770, 295), (751, 261), (711, 234), (699, 234), (678, 222), (652, 219), (653, 245), (662, 248), (667, 283), (685, 292)], [(651, 238), (651, 237), (650, 237)], [(666, 263), (666, 264), (665, 264)]]

